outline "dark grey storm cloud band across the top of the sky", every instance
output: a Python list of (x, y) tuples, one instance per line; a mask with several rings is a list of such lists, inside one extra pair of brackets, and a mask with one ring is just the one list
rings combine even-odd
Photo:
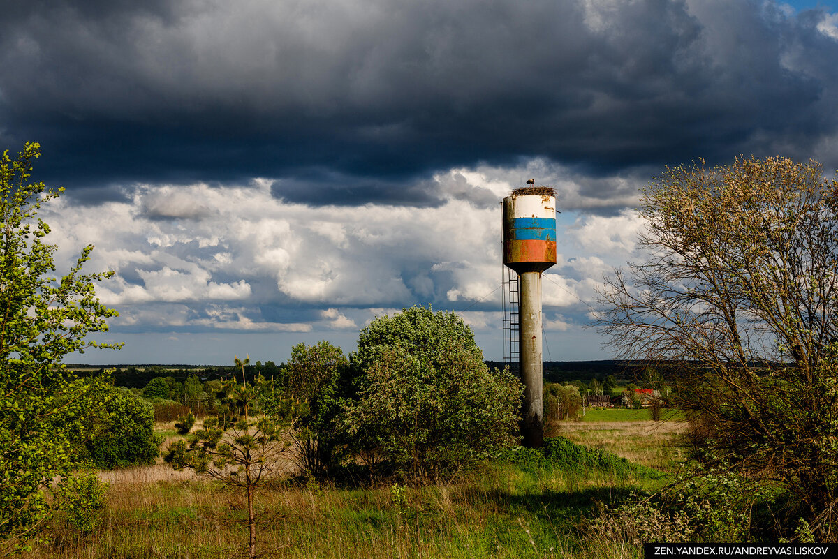
[(52, 181), (433, 205), (448, 167), (805, 158), (838, 123), (825, 14), (771, 3), (136, 4), (4, 11), (0, 141), (40, 141)]

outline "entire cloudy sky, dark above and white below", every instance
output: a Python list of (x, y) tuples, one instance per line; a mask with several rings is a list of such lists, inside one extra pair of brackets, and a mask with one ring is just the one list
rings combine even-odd
[(838, 11), (762, 0), (3, 1), (0, 146), (38, 141), (59, 269), (119, 311), (70, 362), (352, 351), (453, 310), (503, 356), (500, 201), (556, 189), (550, 360), (609, 359), (639, 189), (738, 155), (838, 168)]

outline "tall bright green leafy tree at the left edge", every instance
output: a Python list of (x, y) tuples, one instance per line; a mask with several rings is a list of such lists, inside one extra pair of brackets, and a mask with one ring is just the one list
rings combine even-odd
[(0, 551), (25, 546), (49, 515), (44, 488), (72, 468), (80, 418), (91, 409), (90, 385), (66, 374), (62, 357), (114, 347), (87, 339), (116, 315), (94, 289), (111, 274), (81, 273), (93, 247), (52, 277), (55, 247), (36, 215), (61, 189), (30, 182), (39, 155), (27, 143), (16, 159), (0, 158)]

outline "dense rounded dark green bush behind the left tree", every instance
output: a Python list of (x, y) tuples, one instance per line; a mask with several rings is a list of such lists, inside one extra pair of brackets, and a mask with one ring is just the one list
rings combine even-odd
[(109, 387), (103, 396), (85, 441), (85, 459), (105, 469), (154, 464), (163, 437), (154, 433), (153, 405), (124, 388)]

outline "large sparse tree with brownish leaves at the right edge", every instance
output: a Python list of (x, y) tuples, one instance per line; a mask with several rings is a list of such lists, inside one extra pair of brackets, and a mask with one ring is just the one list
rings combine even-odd
[(640, 213), (648, 259), (608, 280), (602, 330), (668, 366), (706, 456), (778, 484), (835, 541), (838, 182), (783, 157), (701, 162), (647, 187)]

